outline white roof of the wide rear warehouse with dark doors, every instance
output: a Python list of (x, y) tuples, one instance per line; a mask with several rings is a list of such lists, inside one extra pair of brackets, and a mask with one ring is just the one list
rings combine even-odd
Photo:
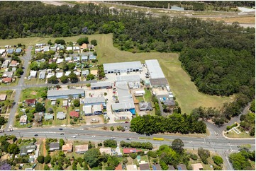
[(136, 69), (142, 68), (140, 61), (126, 61), (126, 62), (116, 62), (103, 64), (104, 70), (121, 70), (121, 69)]

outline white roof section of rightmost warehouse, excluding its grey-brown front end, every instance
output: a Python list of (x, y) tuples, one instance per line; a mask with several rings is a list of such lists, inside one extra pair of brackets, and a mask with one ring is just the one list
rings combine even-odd
[(165, 74), (162, 72), (157, 59), (145, 60), (145, 64), (147, 65), (148, 72), (150, 73), (150, 78), (165, 78)]

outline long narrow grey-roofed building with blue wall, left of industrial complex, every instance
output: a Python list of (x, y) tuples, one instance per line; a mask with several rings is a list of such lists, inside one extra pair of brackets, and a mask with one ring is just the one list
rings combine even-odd
[(58, 98), (79, 98), (79, 96), (84, 97), (83, 89), (69, 89), (69, 90), (48, 90), (48, 99), (58, 99)]

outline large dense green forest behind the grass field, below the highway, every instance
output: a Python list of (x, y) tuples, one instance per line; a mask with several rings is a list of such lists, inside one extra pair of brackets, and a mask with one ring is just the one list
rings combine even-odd
[(218, 124), (238, 115), (254, 99), (255, 28), (199, 18), (154, 18), (127, 8), (94, 4), (69, 7), (40, 1), (0, 2), (2, 39), (94, 33), (113, 33), (113, 45), (133, 53), (179, 52), (182, 67), (200, 92), (235, 93), (234, 101), (223, 105), (225, 110), (216, 117)]

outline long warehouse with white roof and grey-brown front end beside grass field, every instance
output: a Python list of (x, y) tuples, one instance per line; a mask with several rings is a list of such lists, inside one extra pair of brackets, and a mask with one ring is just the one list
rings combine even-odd
[(165, 74), (162, 72), (157, 59), (145, 60), (145, 64), (148, 68), (148, 73), (150, 74), (150, 85), (152, 87), (168, 86)]

